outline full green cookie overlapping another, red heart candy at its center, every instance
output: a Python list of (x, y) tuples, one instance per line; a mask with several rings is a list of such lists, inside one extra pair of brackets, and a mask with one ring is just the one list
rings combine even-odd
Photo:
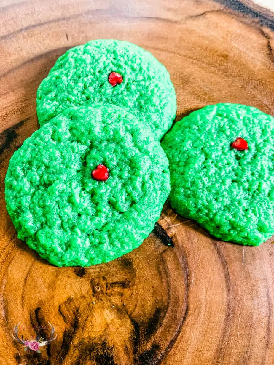
[(15, 151), (5, 178), (18, 238), (57, 266), (132, 251), (151, 233), (169, 192), (160, 143), (113, 105), (71, 107), (46, 123)]

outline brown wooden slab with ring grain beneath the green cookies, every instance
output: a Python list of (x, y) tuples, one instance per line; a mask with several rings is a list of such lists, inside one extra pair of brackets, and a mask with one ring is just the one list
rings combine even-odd
[[(217, 241), (166, 204), (132, 253), (57, 268), (16, 237), (4, 200), (9, 159), (38, 128), (35, 94), (56, 59), (95, 38), (131, 41), (168, 69), (176, 119), (206, 104), (274, 115), (274, 21), (251, 1), (0, 3), (0, 364), (274, 364), (274, 246)], [(41, 354), (12, 339), (57, 338)], [(39, 329), (40, 326), (40, 329)]]

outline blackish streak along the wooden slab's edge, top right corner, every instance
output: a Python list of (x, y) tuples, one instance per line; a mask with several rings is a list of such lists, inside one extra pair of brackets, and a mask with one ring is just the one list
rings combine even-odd
[(214, 0), (214, 1), (222, 5), (225, 5), (227, 8), (230, 8), (244, 15), (250, 15), (252, 16), (252, 18), (257, 19), (260, 25), (268, 27), (269, 29), (274, 31), (274, 16), (271, 17), (270, 15), (262, 14), (261, 12), (256, 11), (237, 0)]

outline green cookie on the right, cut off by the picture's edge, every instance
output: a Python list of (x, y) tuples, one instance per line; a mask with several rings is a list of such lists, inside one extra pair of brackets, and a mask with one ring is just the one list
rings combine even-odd
[(172, 208), (224, 241), (266, 241), (274, 234), (273, 142), (274, 118), (253, 107), (209, 105), (183, 118), (162, 142)]

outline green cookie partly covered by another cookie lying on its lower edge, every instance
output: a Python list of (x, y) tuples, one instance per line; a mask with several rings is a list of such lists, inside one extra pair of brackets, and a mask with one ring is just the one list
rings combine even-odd
[(86, 102), (123, 107), (151, 127), (156, 139), (163, 137), (176, 114), (167, 69), (148, 51), (112, 39), (90, 41), (57, 59), (37, 91), (39, 123)]

